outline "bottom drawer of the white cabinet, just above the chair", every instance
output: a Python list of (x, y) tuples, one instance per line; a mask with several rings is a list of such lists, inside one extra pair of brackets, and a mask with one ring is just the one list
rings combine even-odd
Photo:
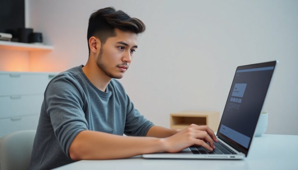
[(0, 119), (0, 137), (19, 130), (36, 130), (39, 114)]

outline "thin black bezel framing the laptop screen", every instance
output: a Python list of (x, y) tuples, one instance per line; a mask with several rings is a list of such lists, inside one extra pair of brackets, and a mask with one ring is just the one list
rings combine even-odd
[[(267, 88), (267, 91), (266, 91), (266, 95), (265, 95), (264, 100), (263, 100), (263, 103), (262, 103), (262, 108), (263, 108), (263, 105), (264, 105), (264, 102), (265, 102), (265, 100), (266, 100), (266, 96), (267, 96), (267, 93), (268, 93), (268, 89), (269, 89), (270, 84), (271, 84), (271, 81), (272, 81), (272, 77), (273, 77), (273, 74), (274, 74), (274, 70), (275, 70), (275, 68), (276, 68), (276, 64), (277, 64), (277, 61), (270, 61), (270, 62), (266, 62), (266, 63), (256, 63), (256, 64), (250, 64), (250, 65), (242, 65), (242, 66), (238, 66), (237, 69), (236, 69), (236, 71), (235, 71), (235, 74), (234, 74), (234, 78), (233, 78), (233, 81), (232, 81), (232, 85), (233, 85), (233, 82), (234, 82), (234, 79), (235, 79), (236, 72), (237, 72), (238, 70), (245, 70), (245, 69), (251, 69), (251, 68), (261, 68), (261, 67), (270, 67), (270, 66), (274, 66), (274, 68), (273, 68), (273, 72), (272, 72), (272, 75), (271, 75), (271, 78), (270, 78), (270, 82), (269, 82), (269, 85), (268, 85), (268, 88)], [(231, 90), (232, 90), (232, 85), (231, 85), (229, 94), (230, 94), (230, 92), (231, 92)], [(225, 105), (224, 110), (226, 110), (227, 102), (229, 102), (229, 101), (228, 101), (228, 100), (229, 100), (229, 94), (228, 94), (228, 97), (227, 97), (227, 100), (226, 100), (226, 105)], [(260, 110), (260, 112), (261, 112), (261, 110)], [(223, 117), (223, 116), (224, 116), (224, 112), (223, 112), (222, 117)], [(221, 121), (222, 121), (222, 117), (221, 117)], [(233, 147), (233, 148), (236, 149), (237, 151), (242, 152), (243, 154), (245, 154), (245, 156), (247, 156), (254, 135), (252, 136), (251, 140), (249, 141), (248, 148), (245, 148), (244, 146), (238, 144), (238, 143), (235, 142), (234, 140), (230, 139), (230, 138), (227, 137), (226, 135), (224, 135), (224, 134), (222, 134), (221, 132), (219, 132), (219, 129), (220, 129), (220, 127), (221, 127), (221, 121), (220, 121), (220, 123), (219, 123), (219, 126), (218, 126), (218, 130), (217, 130), (217, 134), (216, 134), (216, 136), (218, 136), (218, 138), (220, 138), (222, 141), (224, 141), (225, 143), (227, 143), (228, 145), (230, 145), (231, 147)], [(255, 129), (256, 129), (256, 126), (254, 127), (254, 132), (255, 132)]]

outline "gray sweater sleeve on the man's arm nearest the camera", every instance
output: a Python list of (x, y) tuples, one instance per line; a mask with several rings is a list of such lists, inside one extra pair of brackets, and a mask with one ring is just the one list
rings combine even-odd
[(88, 130), (82, 109), (82, 96), (79, 86), (67, 76), (53, 79), (45, 91), (45, 109), (50, 117), (54, 134), (67, 157), (69, 147), (77, 134)]

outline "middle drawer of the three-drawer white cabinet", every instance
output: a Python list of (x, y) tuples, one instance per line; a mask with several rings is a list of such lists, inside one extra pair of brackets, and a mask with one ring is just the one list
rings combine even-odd
[(0, 118), (40, 114), (43, 94), (0, 97)]

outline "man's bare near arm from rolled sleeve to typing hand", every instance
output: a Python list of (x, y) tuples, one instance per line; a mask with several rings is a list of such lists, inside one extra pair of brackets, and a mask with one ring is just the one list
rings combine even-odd
[(119, 136), (83, 130), (72, 141), (69, 156), (72, 160), (119, 159), (160, 151), (179, 152), (192, 145), (213, 150), (213, 141), (217, 139), (209, 127), (195, 124), (167, 138)]

